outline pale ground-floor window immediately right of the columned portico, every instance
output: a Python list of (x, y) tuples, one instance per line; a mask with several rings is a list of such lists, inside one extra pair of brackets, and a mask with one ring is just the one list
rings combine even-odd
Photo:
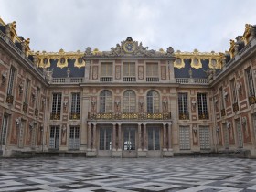
[(190, 149), (190, 130), (189, 126), (179, 126), (179, 149)]

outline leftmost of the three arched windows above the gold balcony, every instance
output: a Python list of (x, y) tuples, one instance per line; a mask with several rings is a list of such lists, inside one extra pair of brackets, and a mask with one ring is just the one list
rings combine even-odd
[(111, 91), (108, 91), (108, 90), (101, 91), (100, 112), (112, 112), (112, 92)]

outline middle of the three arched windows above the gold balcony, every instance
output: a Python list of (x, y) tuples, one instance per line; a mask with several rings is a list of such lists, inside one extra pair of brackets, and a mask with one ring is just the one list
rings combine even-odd
[(136, 111), (136, 94), (132, 90), (123, 93), (123, 112)]

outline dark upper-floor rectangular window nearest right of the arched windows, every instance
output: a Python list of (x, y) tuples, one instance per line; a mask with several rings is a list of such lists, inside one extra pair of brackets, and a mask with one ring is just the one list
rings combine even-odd
[(189, 119), (187, 93), (178, 93), (178, 113), (180, 120)]

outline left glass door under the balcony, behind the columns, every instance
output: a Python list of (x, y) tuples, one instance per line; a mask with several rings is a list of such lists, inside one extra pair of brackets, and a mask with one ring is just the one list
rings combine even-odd
[(100, 128), (100, 150), (112, 149), (112, 127), (106, 126)]

